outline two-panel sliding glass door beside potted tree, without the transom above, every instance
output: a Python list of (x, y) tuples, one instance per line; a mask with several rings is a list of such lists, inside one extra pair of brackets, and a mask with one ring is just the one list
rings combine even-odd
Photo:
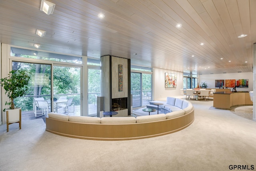
[(44, 116), (45, 121), (51, 111), (81, 115), (81, 66), (54, 65), (52, 70), (52, 64), (12, 62), (12, 70), (26, 70), (31, 74), (26, 95), (15, 99), (15, 105), (22, 107), (23, 119)]

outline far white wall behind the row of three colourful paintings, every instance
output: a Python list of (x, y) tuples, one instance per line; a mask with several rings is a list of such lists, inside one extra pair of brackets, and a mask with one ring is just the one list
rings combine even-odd
[[(199, 76), (199, 85), (206, 82), (208, 88), (215, 88), (215, 80), (248, 79), (248, 88), (236, 88), (237, 91), (253, 91), (253, 73), (227, 73), (227, 74), (208, 74)], [(233, 88), (231, 88), (232, 90)]]

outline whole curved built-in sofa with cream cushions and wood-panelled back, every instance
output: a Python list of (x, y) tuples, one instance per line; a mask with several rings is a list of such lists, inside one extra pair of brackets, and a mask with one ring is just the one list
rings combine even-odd
[[(176, 100), (174, 97), (167, 97), (167, 102), (169, 98)], [(129, 140), (166, 135), (180, 131), (194, 121), (192, 104), (183, 99), (178, 101), (181, 108), (175, 111), (137, 117), (99, 118), (48, 113), (46, 131), (66, 137), (93, 140)]]

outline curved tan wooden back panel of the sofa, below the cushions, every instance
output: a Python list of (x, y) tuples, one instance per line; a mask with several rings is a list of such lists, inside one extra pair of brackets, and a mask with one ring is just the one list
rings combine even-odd
[(194, 108), (180, 117), (143, 123), (82, 123), (46, 117), (46, 131), (79, 139), (130, 140), (174, 133), (188, 127), (193, 121)]

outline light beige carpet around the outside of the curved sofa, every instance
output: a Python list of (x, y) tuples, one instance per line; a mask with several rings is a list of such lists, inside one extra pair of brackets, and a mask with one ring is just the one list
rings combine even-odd
[[(0, 126), (3, 171), (229, 171), (256, 168), (256, 122), (191, 101), (195, 120), (176, 133), (127, 141), (93, 141), (45, 131), (42, 119)], [(93, 130), (86, 130), (93, 131)], [(111, 130), (110, 130), (111, 131)]]

